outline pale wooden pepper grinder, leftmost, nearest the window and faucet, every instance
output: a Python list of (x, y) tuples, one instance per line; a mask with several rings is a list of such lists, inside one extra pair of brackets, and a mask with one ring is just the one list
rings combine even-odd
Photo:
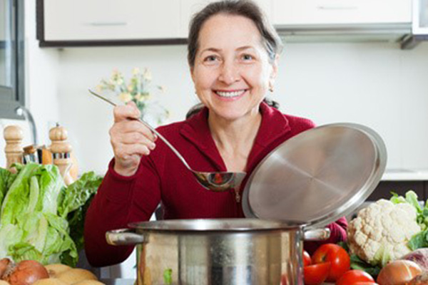
[(13, 163), (22, 163), (21, 142), (24, 138), (24, 132), (18, 125), (9, 125), (3, 131), (4, 140), (6, 140), (6, 169), (9, 169)]

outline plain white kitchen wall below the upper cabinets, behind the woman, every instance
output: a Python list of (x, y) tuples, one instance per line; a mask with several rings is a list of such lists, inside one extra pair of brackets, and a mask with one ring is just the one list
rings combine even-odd
[[(185, 46), (66, 48), (59, 52), (58, 102), (83, 170), (104, 172), (112, 152), (111, 107), (86, 89), (113, 68), (148, 67), (165, 86), (159, 100), (182, 120), (195, 103)], [(387, 144), (389, 168), (428, 168), (428, 43), (402, 51), (394, 43), (290, 43), (272, 97), (285, 113), (318, 125), (362, 123)]]

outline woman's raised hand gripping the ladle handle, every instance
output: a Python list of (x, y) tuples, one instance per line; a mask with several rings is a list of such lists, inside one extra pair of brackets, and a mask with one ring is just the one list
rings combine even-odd
[(131, 176), (138, 170), (141, 157), (155, 149), (156, 136), (138, 121), (141, 113), (132, 101), (115, 107), (113, 113), (114, 124), (109, 133), (115, 157), (114, 170), (120, 175)]

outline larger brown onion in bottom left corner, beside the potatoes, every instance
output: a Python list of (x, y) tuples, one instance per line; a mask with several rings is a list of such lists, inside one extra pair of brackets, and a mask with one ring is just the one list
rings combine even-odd
[(11, 285), (31, 285), (44, 278), (49, 278), (48, 271), (35, 260), (23, 260), (3, 276)]

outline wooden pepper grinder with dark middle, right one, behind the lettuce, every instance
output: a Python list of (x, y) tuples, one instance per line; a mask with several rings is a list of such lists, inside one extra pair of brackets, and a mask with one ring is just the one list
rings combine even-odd
[(73, 147), (67, 142), (68, 132), (65, 128), (56, 124), (55, 128), (49, 130), (49, 138), (52, 142), (50, 150), (54, 157), (54, 165), (58, 167), (64, 182), (68, 186), (74, 182), (70, 175), (72, 165), (70, 154)]

